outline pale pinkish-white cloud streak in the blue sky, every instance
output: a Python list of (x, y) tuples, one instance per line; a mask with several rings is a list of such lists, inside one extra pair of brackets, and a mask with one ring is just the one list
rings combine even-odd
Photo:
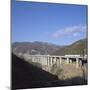
[(77, 25), (77, 26), (71, 26), (71, 27), (66, 27), (64, 29), (60, 29), (55, 31), (52, 34), (53, 38), (59, 38), (59, 37), (68, 37), (68, 36), (73, 36), (77, 37), (81, 34), (86, 34), (86, 26), (83, 25)]

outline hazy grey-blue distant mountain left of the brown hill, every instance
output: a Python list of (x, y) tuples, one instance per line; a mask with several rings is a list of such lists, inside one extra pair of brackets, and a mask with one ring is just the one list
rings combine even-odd
[(46, 42), (15, 42), (12, 44), (13, 52), (29, 54), (50, 54), (60, 48), (60, 46)]

